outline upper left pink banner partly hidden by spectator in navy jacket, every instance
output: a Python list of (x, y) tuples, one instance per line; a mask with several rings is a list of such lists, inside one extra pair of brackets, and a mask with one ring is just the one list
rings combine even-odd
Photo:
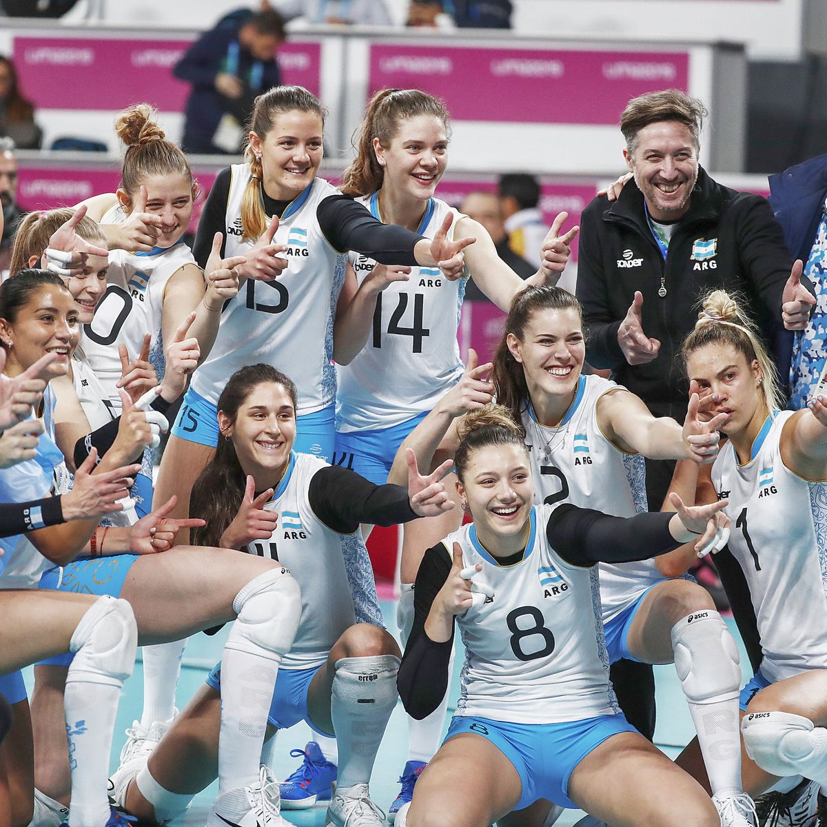
[[(172, 76), (188, 40), (15, 37), (13, 55), (26, 96), (41, 109), (122, 109), (149, 101), (163, 112), (181, 112), (189, 84)], [(289, 43), (279, 63), (289, 84), (318, 94), (322, 46)], [(70, 93), (84, 89), (84, 94)]]

